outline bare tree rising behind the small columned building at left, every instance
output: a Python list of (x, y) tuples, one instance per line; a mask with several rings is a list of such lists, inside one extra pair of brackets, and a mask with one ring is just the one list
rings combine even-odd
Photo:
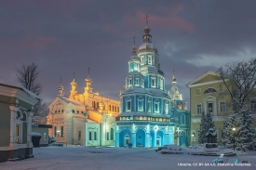
[[(37, 82), (40, 73), (38, 72), (37, 68), (38, 65), (36, 65), (34, 62), (30, 65), (26, 65), (23, 63), (20, 68), (16, 68), (16, 76), (20, 85), (34, 92), (34, 94), (36, 94), (37, 96), (40, 96), (43, 86)], [(40, 100), (34, 106), (34, 116), (45, 116), (46, 110), (46, 104), (43, 103), (42, 100)]]

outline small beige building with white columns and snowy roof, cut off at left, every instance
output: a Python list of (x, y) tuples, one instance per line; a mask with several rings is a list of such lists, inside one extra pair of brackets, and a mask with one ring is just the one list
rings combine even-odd
[(0, 162), (34, 157), (32, 116), (39, 100), (24, 87), (0, 83)]

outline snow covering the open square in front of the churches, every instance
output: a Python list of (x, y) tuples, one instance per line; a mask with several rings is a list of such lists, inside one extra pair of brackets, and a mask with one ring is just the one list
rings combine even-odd
[[(18, 162), (0, 163), (1, 170), (155, 170), (155, 169), (255, 169), (256, 154), (238, 156), (238, 162), (250, 166), (232, 166), (236, 157), (229, 158), (227, 166), (212, 163), (214, 156), (188, 154), (161, 154), (150, 149), (94, 148), (82, 146), (34, 148), (34, 158)], [(194, 164), (193, 164), (194, 163)], [(199, 166), (199, 163), (201, 166)], [(210, 164), (211, 163), (211, 164)], [(215, 164), (215, 166), (214, 166)]]

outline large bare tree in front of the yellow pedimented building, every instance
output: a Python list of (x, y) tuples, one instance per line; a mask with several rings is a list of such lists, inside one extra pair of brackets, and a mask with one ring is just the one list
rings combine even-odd
[(241, 109), (245, 99), (256, 85), (256, 59), (225, 64), (224, 67), (219, 68), (218, 72), (226, 89), (222, 91), (221, 96), (231, 97), (234, 111)]

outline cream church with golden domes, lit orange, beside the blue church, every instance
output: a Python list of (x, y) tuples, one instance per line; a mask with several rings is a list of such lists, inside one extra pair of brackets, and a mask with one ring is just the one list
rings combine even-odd
[(85, 91), (80, 94), (73, 80), (68, 98), (63, 95), (63, 86), (59, 87), (59, 95), (48, 106), (50, 137), (64, 144), (115, 145), (115, 116), (119, 114), (120, 102), (93, 92), (91, 84), (88, 76)]

